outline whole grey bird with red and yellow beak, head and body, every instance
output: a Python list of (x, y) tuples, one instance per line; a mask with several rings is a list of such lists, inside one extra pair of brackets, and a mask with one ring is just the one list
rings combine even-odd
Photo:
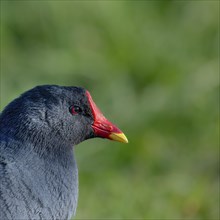
[(0, 115), (0, 219), (70, 219), (78, 169), (73, 146), (94, 137), (127, 143), (81, 87), (37, 86)]

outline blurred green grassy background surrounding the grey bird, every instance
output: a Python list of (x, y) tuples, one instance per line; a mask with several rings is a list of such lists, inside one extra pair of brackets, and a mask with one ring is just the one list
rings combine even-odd
[(219, 217), (219, 1), (1, 1), (1, 110), (87, 88), (129, 144), (75, 149), (77, 219)]

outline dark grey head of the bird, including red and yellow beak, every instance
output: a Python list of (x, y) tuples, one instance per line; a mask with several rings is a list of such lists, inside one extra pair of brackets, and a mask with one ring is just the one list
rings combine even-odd
[(37, 86), (5, 108), (0, 124), (5, 132), (10, 130), (14, 136), (34, 138), (38, 142), (53, 139), (76, 145), (94, 137), (128, 142), (123, 132), (104, 117), (90, 93), (81, 87)]

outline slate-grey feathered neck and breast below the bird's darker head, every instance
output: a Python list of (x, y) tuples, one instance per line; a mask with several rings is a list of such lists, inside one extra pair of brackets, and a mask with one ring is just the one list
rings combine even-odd
[[(9, 148), (12, 142), (19, 152)], [(72, 150), (63, 158), (51, 155), (49, 160), (39, 157), (31, 144), (26, 147), (28, 152), (14, 140), (1, 143), (0, 219), (69, 219), (78, 196)]]

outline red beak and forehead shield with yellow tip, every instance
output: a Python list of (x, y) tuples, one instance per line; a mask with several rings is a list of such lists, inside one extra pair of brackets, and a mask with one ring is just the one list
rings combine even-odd
[(126, 138), (124, 133), (105, 118), (105, 116), (96, 106), (95, 102), (92, 100), (92, 96), (88, 91), (86, 91), (86, 96), (88, 98), (94, 118), (92, 128), (95, 135), (97, 137), (108, 138), (110, 140), (128, 143), (128, 139)]

